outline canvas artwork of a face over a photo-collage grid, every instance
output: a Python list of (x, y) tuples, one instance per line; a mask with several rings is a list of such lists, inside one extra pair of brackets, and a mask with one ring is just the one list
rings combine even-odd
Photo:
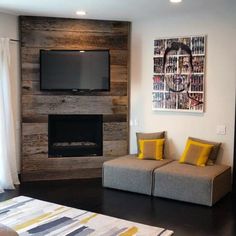
[(154, 40), (152, 109), (204, 111), (206, 36)]

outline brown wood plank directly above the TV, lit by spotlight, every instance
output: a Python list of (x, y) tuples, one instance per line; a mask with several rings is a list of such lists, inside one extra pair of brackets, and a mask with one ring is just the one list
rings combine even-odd
[(78, 49), (128, 49), (128, 36), (109, 33), (81, 33), (68, 31), (25, 31), (21, 44), (30, 48)]

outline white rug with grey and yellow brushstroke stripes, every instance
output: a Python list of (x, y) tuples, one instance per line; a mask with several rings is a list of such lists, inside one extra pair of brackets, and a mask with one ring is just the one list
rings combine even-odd
[(169, 236), (173, 231), (25, 196), (0, 202), (0, 222), (20, 236)]

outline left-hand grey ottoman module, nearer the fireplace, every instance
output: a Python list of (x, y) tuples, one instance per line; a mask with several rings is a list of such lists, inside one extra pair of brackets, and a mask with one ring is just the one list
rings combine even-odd
[(127, 155), (103, 164), (103, 186), (131, 192), (152, 194), (153, 172), (172, 160), (139, 160)]

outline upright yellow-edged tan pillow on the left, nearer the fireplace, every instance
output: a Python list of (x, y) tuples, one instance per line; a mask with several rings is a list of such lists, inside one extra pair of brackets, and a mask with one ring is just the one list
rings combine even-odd
[(162, 160), (163, 159), (163, 146), (165, 139), (140, 139), (140, 153), (138, 158), (143, 159), (154, 159)]

